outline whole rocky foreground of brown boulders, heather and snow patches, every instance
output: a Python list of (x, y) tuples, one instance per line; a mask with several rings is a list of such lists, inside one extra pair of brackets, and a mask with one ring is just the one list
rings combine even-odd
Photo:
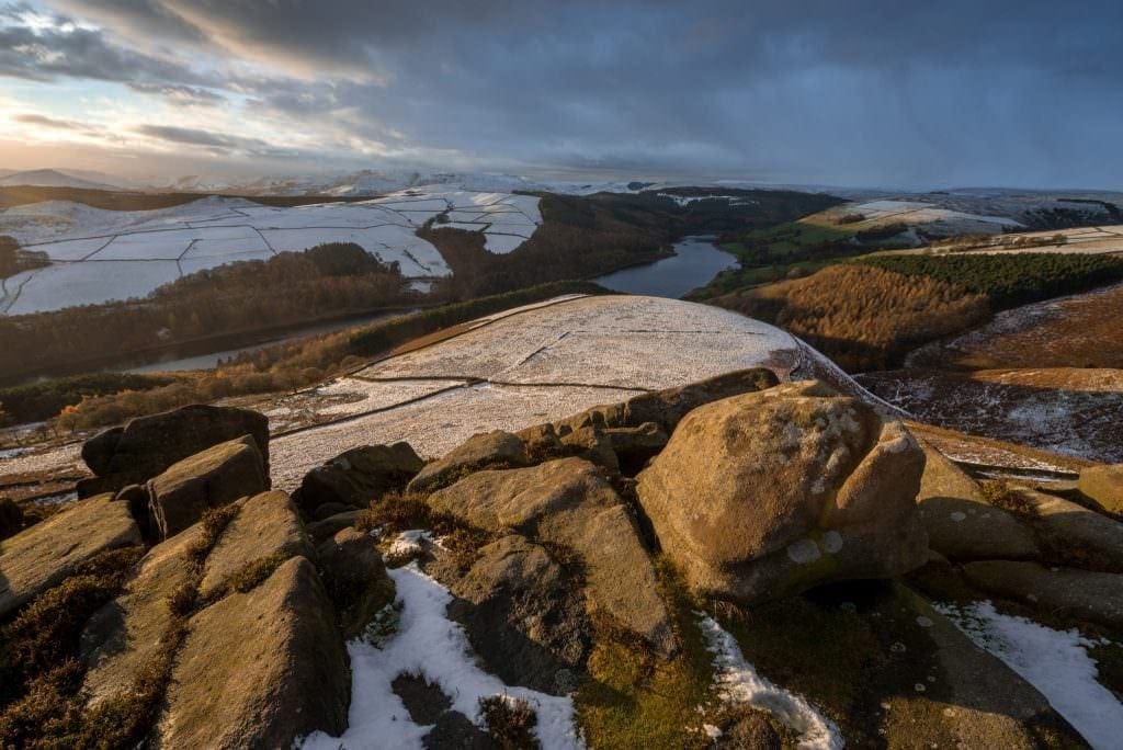
[(739, 371), (432, 461), (360, 446), (291, 496), (239, 409), (134, 420), (82, 455), (88, 499), (0, 542), (4, 747), (1123, 730), (1120, 468), (979, 483), (822, 382)]

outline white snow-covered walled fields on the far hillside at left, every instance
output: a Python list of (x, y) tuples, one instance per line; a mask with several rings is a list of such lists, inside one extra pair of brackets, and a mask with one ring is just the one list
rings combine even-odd
[(541, 223), (538, 199), (496, 192), (409, 190), (350, 203), (274, 208), (207, 198), (154, 211), (107, 211), (48, 201), (0, 211), (0, 235), (53, 265), (0, 285), (0, 314), (21, 314), (145, 296), (185, 274), (322, 243), (355, 243), (423, 281), (451, 272), (417, 228), (448, 213), (483, 231), (493, 253), (510, 253)]

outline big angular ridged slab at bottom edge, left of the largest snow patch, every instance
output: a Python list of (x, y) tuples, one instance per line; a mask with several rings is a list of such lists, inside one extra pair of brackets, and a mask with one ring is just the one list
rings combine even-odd
[(347, 725), (350, 674), (331, 604), (295, 557), (248, 593), (194, 615), (155, 729), (156, 747), (289, 748)]

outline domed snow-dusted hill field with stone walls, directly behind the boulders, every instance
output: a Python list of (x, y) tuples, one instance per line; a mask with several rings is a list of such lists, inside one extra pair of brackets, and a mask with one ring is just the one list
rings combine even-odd
[(319, 388), (338, 396), (334, 421), (275, 437), (273, 482), (292, 490), (313, 466), (356, 446), (405, 440), (435, 457), (476, 432), (758, 366), (785, 379), (829, 376), (874, 399), (794, 337), (736, 312), (663, 298), (563, 298), (481, 319)]

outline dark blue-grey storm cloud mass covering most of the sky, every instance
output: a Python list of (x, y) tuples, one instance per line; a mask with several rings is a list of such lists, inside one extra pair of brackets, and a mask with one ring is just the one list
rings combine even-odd
[[(274, 71), (219, 74), (261, 111), (480, 163), (894, 185), (1123, 174), (1114, 0), (46, 1), (146, 64), (191, 48)], [(84, 67), (124, 74), (108, 53)]]

